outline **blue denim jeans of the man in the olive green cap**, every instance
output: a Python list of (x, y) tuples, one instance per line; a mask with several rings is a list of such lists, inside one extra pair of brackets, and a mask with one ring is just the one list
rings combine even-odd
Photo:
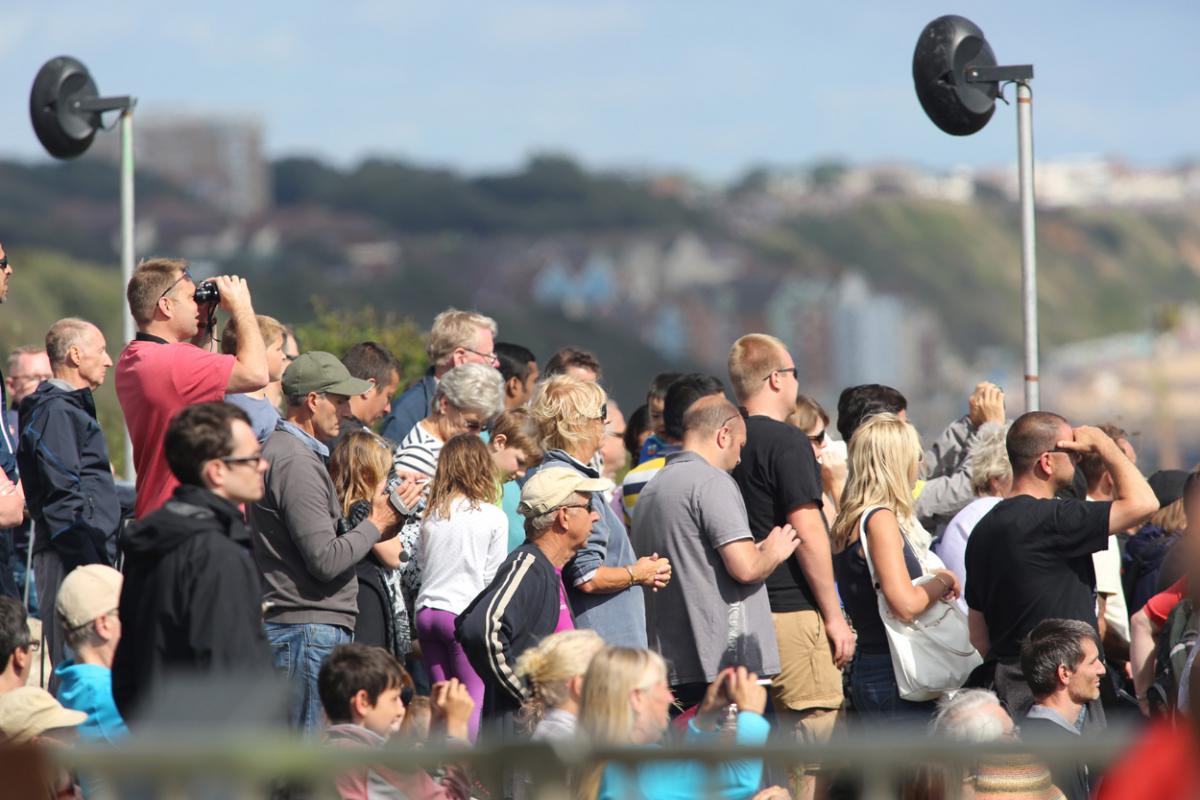
[(264, 622), (264, 627), (266, 640), (271, 643), (275, 668), (284, 673), (292, 685), (292, 727), (305, 733), (320, 729), (324, 720), (317, 692), (320, 662), (334, 648), (349, 643), (354, 636), (340, 625), (316, 622)]

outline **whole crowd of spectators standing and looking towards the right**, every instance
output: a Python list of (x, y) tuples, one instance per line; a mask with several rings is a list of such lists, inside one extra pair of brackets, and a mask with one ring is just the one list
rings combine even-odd
[[(626, 421), (592, 354), (539, 368), (454, 308), (401, 390), (380, 344), (304, 351), (246, 281), (208, 282), (218, 300), (198, 302), (185, 261), (139, 264), (115, 366), (74, 318), (8, 361), (7, 744), (120, 746), (176, 681), (277, 674), (277, 722), (335, 747), (799, 745), (786, 769), (594, 763), (571, 776), (587, 800), (853, 796), (803, 745), (889, 726), (1031, 742), (914, 776), (911, 796), (1075, 800), (1109, 783), (1042, 764), (1034, 742), (1187, 717), (1200, 473), (1147, 480), (1115, 426), (1009, 420), (982, 383), (925, 449), (904, 395), (868, 384), (841, 392), (834, 439), (762, 333), (732, 344), (726, 374), (648, 377)], [(109, 368), (132, 491), (92, 398)], [(380, 765), (336, 789), (524, 796), (510, 771), (498, 788), (458, 764)], [(44, 780), (52, 796), (110, 789)]]

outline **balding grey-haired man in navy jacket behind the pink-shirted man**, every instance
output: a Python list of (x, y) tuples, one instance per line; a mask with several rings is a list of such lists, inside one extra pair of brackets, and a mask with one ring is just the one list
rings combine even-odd
[[(53, 377), (19, 409), (17, 458), (34, 518), (34, 582), (42, 608), (54, 608), (66, 573), (109, 563), (106, 545), (121, 519), (91, 395), (113, 366), (106, 347), (104, 335), (86, 320), (54, 323), (46, 335)], [(61, 624), (47, 622), (46, 631), (50, 661), (58, 664)]]

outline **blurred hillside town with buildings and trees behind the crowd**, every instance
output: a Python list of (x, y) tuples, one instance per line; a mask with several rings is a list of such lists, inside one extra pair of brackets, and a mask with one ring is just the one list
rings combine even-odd
[[(911, 58), (910, 40), (943, 12), (913, 11), (896, 49)], [(986, 14), (977, 22), (992, 30)], [(137, 94), (106, 78), (86, 48), (72, 54), (102, 90)], [(136, 83), (136, 71), (124, 74)], [(31, 79), (6, 78), (25, 91)], [(896, 104), (924, 136), (948, 139), (924, 121), (911, 80), (905, 91)], [(23, 107), (10, 110), (10, 127), (28, 127)], [(305, 326), (317, 342), (331, 329), (389, 329), (413, 343), (415, 374), (416, 337), (433, 314), (474, 307), (542, 360), (566, 343), (595, 351), (631, 409), (654, 373), (724, 377), (730, 343), (766, 331), (792, 345), (802, 389), (830, 409), (844, 386), (890, 384), (931, 437), (990, 379), (1021, 410), (1015, 133), (1003, 106), (991, 122), (1002, 136), (971, 163), (932, 164), (900, 145), (886, 158), (820, 155), (839, 151), (829, 140), (806, 156), (749, 154), (719, 175), (652, 157), (613, 164), (557, 137), (494, 168), (386, 144), (376, 150), (384, 155), (296, 155), (271, 146), (269, 109), (144, 102), (136, 120), (138, 254), (248, 276), (256, 308), (300, 325), (305, 347)], [(116, 136), (68, 164), (30, 154), (29, 138), (7, 158), (0, 149), (0, 241), (16, 265), (0, 348), (37, 341), (72, 313), (103, 321), (115, 356)], [(1090, 144), (1038, 152), (1043, 407), (1122, 425), (1151, 467), (1192, 465), (1200, 162), (1076, 155)], [(119, 435), (110, 393), (101, 392), (103, 421)]]

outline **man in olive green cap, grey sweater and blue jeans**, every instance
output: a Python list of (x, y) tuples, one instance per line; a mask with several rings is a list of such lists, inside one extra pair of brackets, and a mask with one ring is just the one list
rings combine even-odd
[(380, 487), (371, 515), (338, 536), (341, 503), (325, 469), (349, 398), (371, 389), (329, 353), (305, 353), (283, 373), (284, 417), (263, 446), (266, 491), (250, 506), (254, 561), (263, 576), (263, 620), (275, 667), (293, 685), (292, 724), (320, 724), (317, 673), (338, 644), (350, 642), (358, 615), (354, 565), (402, 518)]

